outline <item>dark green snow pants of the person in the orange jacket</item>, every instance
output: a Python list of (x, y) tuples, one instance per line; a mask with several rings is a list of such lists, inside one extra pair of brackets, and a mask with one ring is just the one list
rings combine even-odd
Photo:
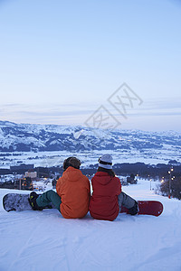
[(39, 207), (45, 207), (49, 205), (51, 202), (57, 210), (61, 211), (60, 206), (62, 203), (61, 197), (52, 190), (43, 192), (43, 194), (36, 199), (36, 203), (38, 204)]

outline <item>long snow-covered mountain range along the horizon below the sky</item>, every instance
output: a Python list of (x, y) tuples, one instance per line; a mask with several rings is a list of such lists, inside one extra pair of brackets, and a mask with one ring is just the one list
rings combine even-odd
[(168, 147), (181, 150), (181, 135), (83, 126), (31, 125), (0, 121), (1, 152), (131, 150)]

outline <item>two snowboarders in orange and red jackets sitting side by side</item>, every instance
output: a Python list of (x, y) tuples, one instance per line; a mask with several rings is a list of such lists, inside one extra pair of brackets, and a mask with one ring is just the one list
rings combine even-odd
[(81, 173), (81, 161), (69, 157), (63, 163), (62, 177), (56, 184), (56, 192), (50, 190), (42, 195), (30, 193), (33, 210), (43, 210), (51, 202), (65, 219), (81, 219), (90, 210), (97, 220), (115, 220), (121, 206), (129, 209), (129, 214), (138, 213), (138, 202), (121, 192), (121, 183), (112, 170), (112, 156), (103, 154), (99, 159), (97, 173), (90, 181)]

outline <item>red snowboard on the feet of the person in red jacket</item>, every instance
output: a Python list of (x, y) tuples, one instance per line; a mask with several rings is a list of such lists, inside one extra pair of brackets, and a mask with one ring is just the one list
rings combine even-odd
[[(158, 217), (163, 211), (163, 204), (159, 201), (138, 201), (138, 215), (151, 215)], [(120, 212), (129, 213), (126, 207), (121, 207)]]

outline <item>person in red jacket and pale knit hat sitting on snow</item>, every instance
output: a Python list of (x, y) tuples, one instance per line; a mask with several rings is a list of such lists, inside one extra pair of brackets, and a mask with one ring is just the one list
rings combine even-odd
[(121, 206), (129, 209), (129, 214), (138, 213), (138, 202), (121, 191), (121, 183), (112, 170), (112, 156), (103, 154), (99, 159), (97, 173), (91, 179), (90, 215), (97, 220), (115, 220)]

